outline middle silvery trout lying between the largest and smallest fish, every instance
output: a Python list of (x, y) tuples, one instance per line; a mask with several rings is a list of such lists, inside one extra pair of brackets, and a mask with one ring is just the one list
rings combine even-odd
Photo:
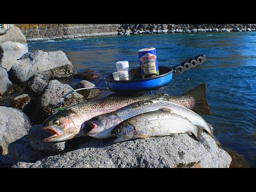
[(202, 129), (212, 135), (211, 125), (206, 123), (200, 115), (187, 107), (183, 107), (167, 100), (164, 96), (145, 101), (138, 101), (110, 113), (91, 118), (86, 122), (92, 129), (87, 135), (99, 139), (109, 138), (111, 137), (111, 131), (119, 123), (133, 116), (161, 108), (168, 108), (172, 113), (188, 118), (194, 125), (202, 127)]

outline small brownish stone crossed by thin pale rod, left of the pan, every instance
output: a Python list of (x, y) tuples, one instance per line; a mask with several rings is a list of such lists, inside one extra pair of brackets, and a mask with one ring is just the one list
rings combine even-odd
[[(87, 88), (87, 87), (95, 87), (95, 85), (89, 81), (82, 80), (78, 82), (75, 89)], [(100, 94), (100, 90), (98, 89), (79, 90), (78, 93), (82, 94), (85, 99), (92, 99), (97, 97)]]

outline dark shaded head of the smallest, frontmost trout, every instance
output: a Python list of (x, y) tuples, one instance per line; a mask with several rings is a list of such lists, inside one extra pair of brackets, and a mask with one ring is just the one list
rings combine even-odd
[(129, 123), (121, 123), (111, 131), (111, 136), (116, 137), (114, 143), (130, 140), (134, 134), (135, 128)]

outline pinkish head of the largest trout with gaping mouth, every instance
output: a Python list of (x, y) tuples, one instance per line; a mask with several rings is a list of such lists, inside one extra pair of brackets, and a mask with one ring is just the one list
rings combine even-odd
[(83, 124), (82, 119), (72, 110), (62, 110), (47, 118), (42, 129), (51, 133), (44, 141), (65, 141), (75, 137)]

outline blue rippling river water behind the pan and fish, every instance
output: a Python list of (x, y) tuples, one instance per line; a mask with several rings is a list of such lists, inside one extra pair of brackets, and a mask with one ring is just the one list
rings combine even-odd
[(177, 95), (207, 83), (213, 115), (202, 117), (213, 125), (223, 147), (238, 151), (256, 167), (256, 32), (89, 37), (28, 46), (29, 51), (61, 50), (78, 71), (98, 71), (101, 77), (92, 81), (98, 87), (107, 87), (103, 77), (116, 71), (116, 61), (128, 60), (130, 68), (139, 67), (139, 49), (156, 47), (159, 66), (205, 54), (202, 66), (175, 77), (163, 91)]

